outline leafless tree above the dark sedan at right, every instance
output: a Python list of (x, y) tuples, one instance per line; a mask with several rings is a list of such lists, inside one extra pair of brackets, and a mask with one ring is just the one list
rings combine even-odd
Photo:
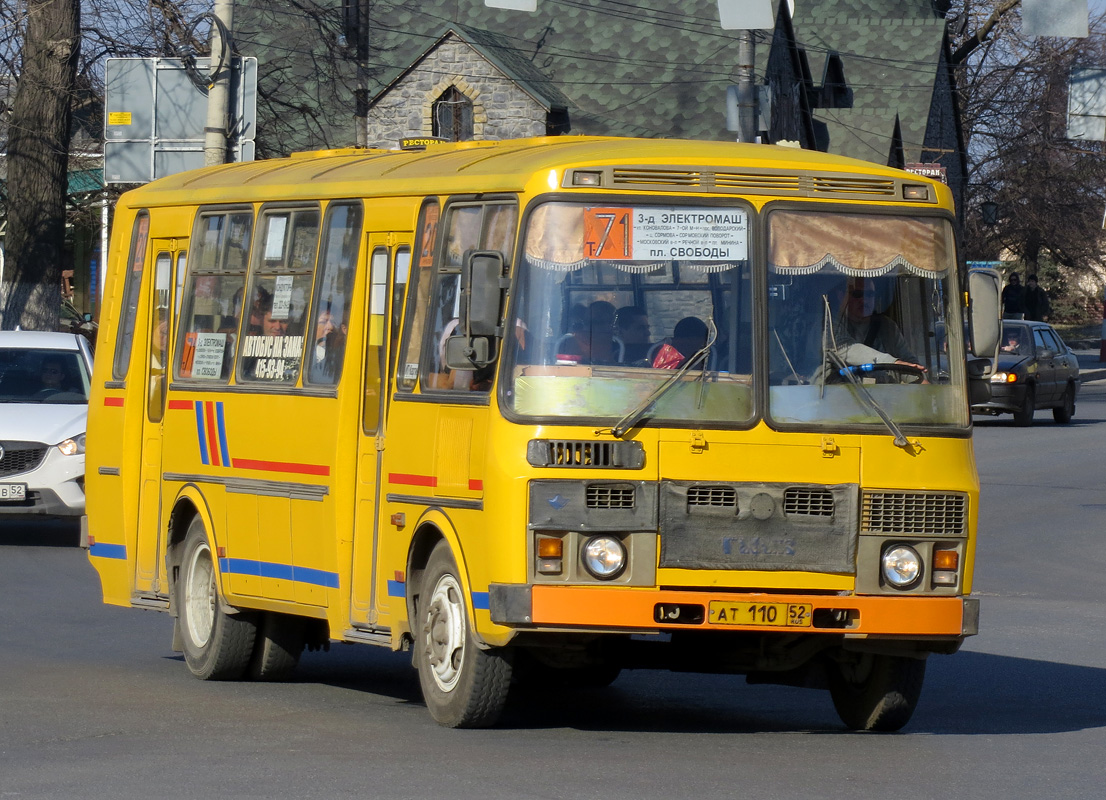
[[(970, 259), (1013, 254), (1030, 271), (1078, 278), (1103, 263), (1106, 148), (1066, 138), (1072, 69), (1106, 66), (1106, 23), (1087, 39), (1021, 35), (1016, 2), (958, 3), (950, 29), (968, 149)], [(985, 31), (980, 34), (980, 31)], [(983, 214), (984, 204), (995, 211)]]

